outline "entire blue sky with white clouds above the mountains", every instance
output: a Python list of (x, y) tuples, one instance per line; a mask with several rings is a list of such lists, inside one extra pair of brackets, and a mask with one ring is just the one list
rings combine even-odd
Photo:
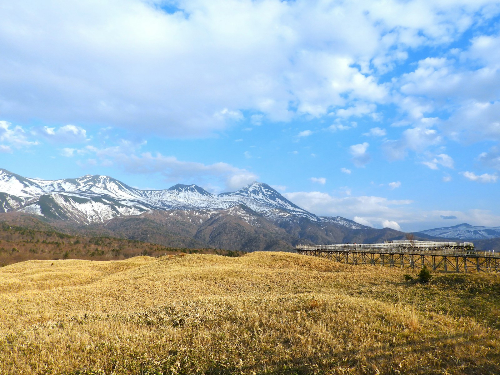
[(500, 226), (500, 2), (0, 0), (0, 166)]

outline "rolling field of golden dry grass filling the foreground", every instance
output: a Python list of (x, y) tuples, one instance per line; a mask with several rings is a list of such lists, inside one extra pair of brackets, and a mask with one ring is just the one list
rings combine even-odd
[(500, 373), (500, 277), (284, 252), (0, 268), (0, 373)]

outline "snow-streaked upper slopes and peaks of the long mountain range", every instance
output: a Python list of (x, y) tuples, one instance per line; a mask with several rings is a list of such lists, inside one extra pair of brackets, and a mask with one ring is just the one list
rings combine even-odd
[(243, 204), (273, 215), (320, 219), (293, 204), (269, 185), (254, 181), (234, 192), (211, 194), (196, 185), (177, 184), (164, 190), (141, 190), (109, 176), (40, 180), (0, 169), (0, 211), (19, 210), (78, 222), (104, 222), (150, 209), (227, 209)]

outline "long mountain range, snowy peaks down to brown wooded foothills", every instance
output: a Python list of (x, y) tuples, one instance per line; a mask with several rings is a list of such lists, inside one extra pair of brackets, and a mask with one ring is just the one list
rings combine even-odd
[[(196, 185), (141, 190), (103, 175), (41, 180), (0, 169), (0, 212), (4, 219), (30, 225), (33, 220), (23, 216), (68, 232), (172, 247), (292, 250), (299, 243), (379, 242), (406, 235), (341, 216), (317, 216), (257, 181), (212, 194)], [(415, 235), (437, 236), (427, 231)]]

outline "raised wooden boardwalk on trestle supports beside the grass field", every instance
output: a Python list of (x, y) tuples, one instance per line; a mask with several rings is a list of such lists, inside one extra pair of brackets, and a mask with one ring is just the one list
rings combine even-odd
[(385, 243), (297, 245), (297, 253), (349, 264), (500, 272), (500, 252), (477, 251), (472, 242), (394, 240)]

